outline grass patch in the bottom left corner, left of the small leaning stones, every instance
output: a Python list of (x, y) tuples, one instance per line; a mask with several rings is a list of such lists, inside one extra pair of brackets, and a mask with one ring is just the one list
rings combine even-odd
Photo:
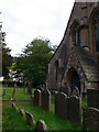
[[(19, 111), (15, 111), (11, 108), (11, 106), (7, 107), (2, 111), (2, 129), (3, 131), (14, 132), (15, 130), (33, 130), (34, 127), (30, 127), (26, 124), (26, 120), (22, 118)], [(18, 132), (19, 132), (18, 131)]]

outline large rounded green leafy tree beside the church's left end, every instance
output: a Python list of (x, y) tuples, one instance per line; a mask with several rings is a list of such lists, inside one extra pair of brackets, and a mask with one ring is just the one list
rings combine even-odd
[(53, 48), (50, 46), (50, 41), (35, 38), (26, 45), (23, 54), (16, 59), (16, 69), (36, 87), (46, 80), (47, 65), (52, 55)]

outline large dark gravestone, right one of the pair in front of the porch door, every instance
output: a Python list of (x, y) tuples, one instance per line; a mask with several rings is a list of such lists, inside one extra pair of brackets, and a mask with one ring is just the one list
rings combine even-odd
[(67, 99), (67, 117), (74, 123), (81, 123), (81, 99), (69, 97)]

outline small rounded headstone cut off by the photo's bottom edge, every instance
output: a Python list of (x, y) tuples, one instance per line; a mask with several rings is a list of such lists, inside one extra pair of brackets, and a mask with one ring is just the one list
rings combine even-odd
[(46, 124), (43, 120), (38, 120), (36, 123), (36, 132), (47, 132)]

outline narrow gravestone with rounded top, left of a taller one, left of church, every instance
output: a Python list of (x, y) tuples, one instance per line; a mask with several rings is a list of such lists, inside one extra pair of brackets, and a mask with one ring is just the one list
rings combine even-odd
[(34, 91), (34, 100), (33, 100), (34, 106), (41, 106), (41, 90), (36, 89)]

